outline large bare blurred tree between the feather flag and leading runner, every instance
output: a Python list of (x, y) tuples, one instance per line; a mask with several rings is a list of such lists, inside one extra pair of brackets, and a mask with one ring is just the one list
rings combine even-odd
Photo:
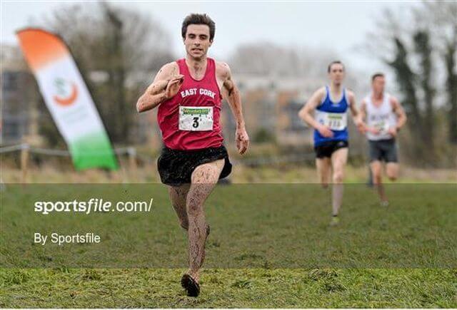
[(130, 142), (145, 82), (138, 76), (174, 58), (165, 31), (150, 16), (105, 2), (63, 6), (44, 26), (69, 45), (111, 141)]

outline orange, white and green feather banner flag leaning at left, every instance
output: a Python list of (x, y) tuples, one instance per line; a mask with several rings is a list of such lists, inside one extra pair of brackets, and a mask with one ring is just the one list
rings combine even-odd
[(116, 170), (118, 163), (99, 112), (64, 41), (43, 29), (23, 29), (17, 36), (76, 170)]

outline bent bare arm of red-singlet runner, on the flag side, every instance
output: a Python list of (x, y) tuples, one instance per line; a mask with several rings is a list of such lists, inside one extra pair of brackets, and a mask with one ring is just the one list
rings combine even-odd
[(136, 110), (141, 113), (156, 108), (157, 105), (178, 93), (183, 82), (175, 62), (164, 65), (154, 78), (154, 82), (136, 102)]

